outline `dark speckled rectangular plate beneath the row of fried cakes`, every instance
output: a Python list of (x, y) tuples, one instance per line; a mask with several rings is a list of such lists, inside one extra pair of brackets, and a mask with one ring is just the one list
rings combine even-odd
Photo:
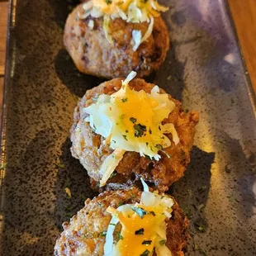
[[(2, 130), (1, 255), (52, 255), (61, 223), (92, 197), (69, 152), (73, 108), (101, 81), (64, 50), (64, 0), (12, 0)], [(147, 78), (201, 113), (172, 188), (191, 219), (187, 255), (256, 255), (255, 102), (225, 0), (164, 1), (172, 47)], [(6, 166), (5, 166), (5, 163)], [(69, 187), (72, 198), (64, 192)]]

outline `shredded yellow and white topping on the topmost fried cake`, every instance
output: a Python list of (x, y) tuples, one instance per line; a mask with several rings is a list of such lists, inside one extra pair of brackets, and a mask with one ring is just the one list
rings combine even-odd
[(145, 35), (132, 33), (133, 50), (137, 50), (142, 42), (147, 40), (152, 33), (154, 17), (159, 17), (160, 12), (165, 12), (168, 7), (163, 7), (155, 0), (91, 0), (83, 4), (83, 13), (78, 13), (78, 17), (85, 19), (88, 16), (104, 17), (103, 29), (107, 40), (113, 43), (108, 33), (110, 19), (121, 18), (127, 22), (139, 23), (148, 22), (149, 27)]

